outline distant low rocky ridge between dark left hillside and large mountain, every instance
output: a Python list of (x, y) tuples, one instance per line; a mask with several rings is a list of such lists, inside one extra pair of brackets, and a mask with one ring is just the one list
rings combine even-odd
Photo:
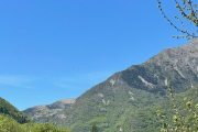
[(28, 114), (32, 120), (43, 123), (43, 121), (50, 120), (50, 117), (57, 116), (59, 118), (64, 118), (63, 114), (58, 114), (59, 111), (70, 107), (70, 105), (75, 103), (76, 98), (63, 99), (58, 100), (52, 105), (41, 105), (36, 107), (32, 107), (25, 109), (23, 112)]

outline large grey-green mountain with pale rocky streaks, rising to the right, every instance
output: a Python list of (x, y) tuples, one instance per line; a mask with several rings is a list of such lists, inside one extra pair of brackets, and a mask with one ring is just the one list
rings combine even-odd
[(140, 128), (145, 131), (147, 125), (140, 123), (145, 121), (138, 113), (168, 100), (168, 85), (176, 95), (198, 85), (198, 53), (189, 52), (195, 50), (198, 50), (198, 38), (179, 47), (165, 48), (145, 63), (113, 74), (59, 111), (62, 117), (56, 114), (51, 119), (74, 132), (90, 131), (92, 124), (102, 132), (138, 132)]

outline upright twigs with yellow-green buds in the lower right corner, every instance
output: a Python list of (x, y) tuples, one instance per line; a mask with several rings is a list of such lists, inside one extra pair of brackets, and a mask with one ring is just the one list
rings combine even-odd
[(175, 111), (175, 114), (173, 116), (173, 123), (170, 124), (170, 122), (165, 122), (165, 116), (162, 114), (161, 110), (156, 111), (157, 116), (161, 118), (161, 122), (163, 123), (161, 132), (198, 132), (198, 103), (194, 106), (190, 99), (184, 98), (190, 114), (182, 116), (180, 111), (178, 111), (178, 108), (176, 107), (172, 87), (168, 86), (168, 89), (169, 95), (172, 96), (174, 106), (173, 110)]

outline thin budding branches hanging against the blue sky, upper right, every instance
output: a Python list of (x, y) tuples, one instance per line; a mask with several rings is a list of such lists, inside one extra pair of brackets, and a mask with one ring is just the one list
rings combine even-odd
[[(182, 14), (182, 18), (183, 19), (186, 19), (188, 20), (190, 23), (193, 23), (196, 28), (198, 28), (198, 15), (197, 15), (197, 9), (198, 9), (198, 6), (195, 4), (193, 2), (193, 0), (182, 0), (182, 2), (178, 2), (177, 0), (175, 0), (175, 3), (176, 3), (176, 8), (178, 9), (178, 11), (180, 12)], [(193, 40), (195, 37), (198, 37), (195, 35), (194, 32), (189, 32), (188, 30), (184, 30), (184, 29), (179, 29), (176, 24), (174, 24), (169, 19), (168, 16), (165, 14), (165, 12), (163, 11), (162, 9), (162, 6), (161, 6), (161, 0), (157, 0), (158, 2), (158, 9), (161, 10), (161, 13), (164, 15), (164, 18), (170, 23), (172, 26), (174, 26), (177, 31), (182, 32), (183, 36), (173, 36), (173, 37), (177, 37), (177, 38), (187, 38), (187, 40)], [(182, 7), (183, 4), (183, 7)], [(185, 28), (185, 24), (184, 24), (184, 21), (175, 15), (175, 19), (177, 19), (178, 21), (180, 21), (180, 24), (183, 28)], [(197, 30), (198, 32), (198, 30)]]

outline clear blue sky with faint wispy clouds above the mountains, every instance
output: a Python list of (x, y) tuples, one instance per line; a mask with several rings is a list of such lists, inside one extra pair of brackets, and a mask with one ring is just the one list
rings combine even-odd
[[(179, 24), (174, 1), (162, 2)], [(172, 38), (180, 33), (155, 0), (4, 0), (0, 18), (0, 97), (19, 110), (79, 97), (188, 42)]]

